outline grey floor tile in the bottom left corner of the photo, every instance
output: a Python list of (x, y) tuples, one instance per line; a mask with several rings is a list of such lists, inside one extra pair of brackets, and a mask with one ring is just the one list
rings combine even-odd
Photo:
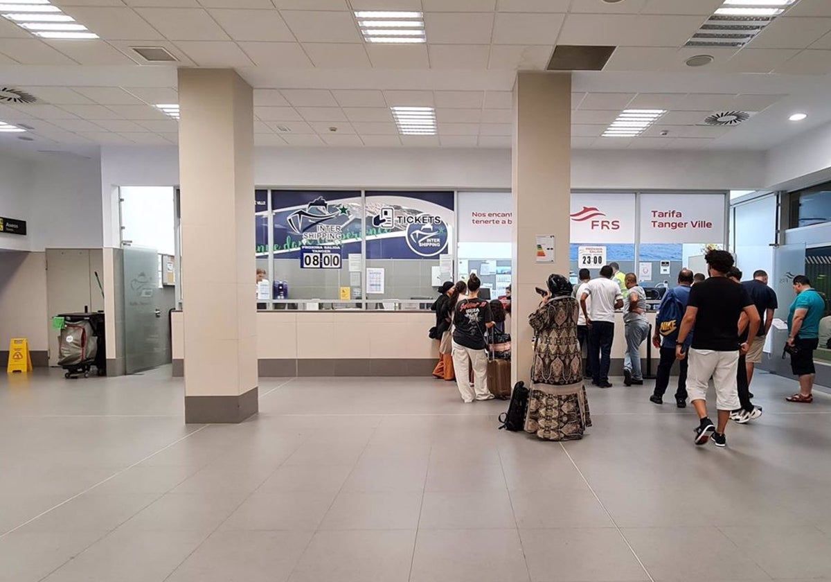
[(0, 582), (42, 580), (104, 535), (106, 531), (15, 532), (0, 538)]

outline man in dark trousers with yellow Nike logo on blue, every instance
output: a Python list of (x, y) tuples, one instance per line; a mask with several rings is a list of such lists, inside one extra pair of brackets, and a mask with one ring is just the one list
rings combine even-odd
[[(652, 345), (661, 351), (661, 362), (658, 363), (658, 373), (655, 380), (655, 392), (649, 399), (656, 404), (663, 404), (664, 392), (670, 383), (672, 364), (676, 361), (676, 339), (678, 330), (681, 329), (681, 319), (684, 318), (686, 304), (690, 300), (690, 288), (692, 286), (693, 273), (690, 269), (681, 269), (678, 274), (678, 286), (674, 289), (667, 289), (661, 307), (655, 318), (655, 333), (652, 335)], [(686, 338), (686, 347), (692, 343), (692, 333)], [(679, 360), (681, 373), (678, 376), (678, 389), (676, 390), (676, 406), (686, 407), (686, 359)]]

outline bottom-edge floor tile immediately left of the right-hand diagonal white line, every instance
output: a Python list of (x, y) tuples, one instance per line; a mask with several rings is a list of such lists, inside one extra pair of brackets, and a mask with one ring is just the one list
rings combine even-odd
[(533, 582), (649, 580), (611, 528), (519, 530)]

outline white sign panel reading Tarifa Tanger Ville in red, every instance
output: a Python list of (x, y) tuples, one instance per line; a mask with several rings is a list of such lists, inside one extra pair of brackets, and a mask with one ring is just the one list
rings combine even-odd
[(724, 243), (725, 195), (641, 195), (642, 243)]

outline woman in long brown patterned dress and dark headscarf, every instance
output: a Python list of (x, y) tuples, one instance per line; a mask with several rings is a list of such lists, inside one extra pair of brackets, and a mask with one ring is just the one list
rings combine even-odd
[(578, 304), (571, 292), (568, 279), (551, 275), (548, 293), (529, 316), (537, 341), (525, 431), (548, 441), (583, 438), (592, 426), (577, 340)]

